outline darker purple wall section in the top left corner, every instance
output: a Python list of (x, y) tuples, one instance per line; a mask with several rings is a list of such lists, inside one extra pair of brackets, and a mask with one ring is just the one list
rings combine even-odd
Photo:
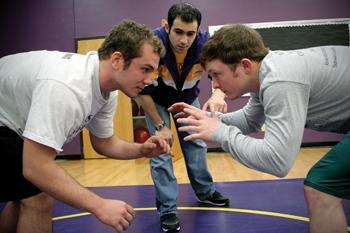
[(30, 50), (74, 52), (73, 0), (4, 1), (0, 57)]

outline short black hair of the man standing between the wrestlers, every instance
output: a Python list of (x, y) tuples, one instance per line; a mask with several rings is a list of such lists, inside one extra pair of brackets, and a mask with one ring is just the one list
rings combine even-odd
[(189, 3), (178, 3), (170, 7), (168, 11), (168, 24), (169, 28), (173, 26), (174, 20), (180, 17), (181, 21), (185, 23), (198, 22), (198, 27), (201, 24), (202, 14), (201, 12)]

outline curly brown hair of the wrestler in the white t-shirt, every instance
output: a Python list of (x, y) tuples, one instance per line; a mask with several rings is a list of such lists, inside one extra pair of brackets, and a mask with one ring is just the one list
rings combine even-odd
[(125, 67), (128, 67), (132, 59), (142, 55), (141, 48), (145, 43), (149, 43), (155, 53), (164, 56), (163, 43), (148, 27), (132, 20), (123, 20), (106, 36), (98, 49), (98, 56), (100, 60), (106, 60), (112, 53), (119, 51), (123, 54)]

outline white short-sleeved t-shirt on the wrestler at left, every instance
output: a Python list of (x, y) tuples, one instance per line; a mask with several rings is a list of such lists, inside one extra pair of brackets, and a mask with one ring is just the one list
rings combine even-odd
[(33, 51), (0, 59), (0, 124), (62, 151), (87, 126), (113, 135), (116, 93), (104, 98), (96, 52)]

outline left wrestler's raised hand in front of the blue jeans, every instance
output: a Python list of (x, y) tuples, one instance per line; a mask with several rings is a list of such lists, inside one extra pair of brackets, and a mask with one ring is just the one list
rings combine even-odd
[(152, 136), (141, 145), (140, 152), (147, 158), (152, 158), (161, 154), (170, 154), (170, 145), (166, 140), (159, 136)]

